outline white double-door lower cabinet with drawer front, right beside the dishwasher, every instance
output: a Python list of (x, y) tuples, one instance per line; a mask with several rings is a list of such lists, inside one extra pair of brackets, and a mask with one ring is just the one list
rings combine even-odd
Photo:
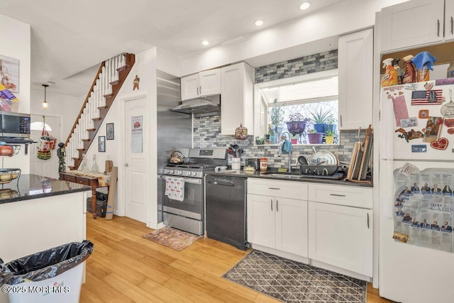
[(307, 257), (307, 184), (248, 178), (248, 242)]

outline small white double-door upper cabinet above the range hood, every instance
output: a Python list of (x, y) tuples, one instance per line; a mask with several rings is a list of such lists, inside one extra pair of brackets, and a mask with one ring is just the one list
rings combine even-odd
[(221, 69), (205, 70), (182, 77), (182, 101), (221, 94)]

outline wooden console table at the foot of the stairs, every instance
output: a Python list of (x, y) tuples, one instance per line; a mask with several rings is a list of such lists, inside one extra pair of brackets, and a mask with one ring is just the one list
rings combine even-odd
[(69, 172), (59, 172), (61, 180), (84, 184), (92, 187), (92, 209), (93, 219), (96, 219), (96, 188), (109, 187), (110, 176), (95, 174), (92, 172), (82, 172), (80, 170), (70, 170)]

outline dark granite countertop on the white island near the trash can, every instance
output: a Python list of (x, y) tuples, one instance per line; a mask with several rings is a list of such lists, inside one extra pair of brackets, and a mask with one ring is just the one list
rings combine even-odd
[(0, 204), (87, 190), (92, 190), (92, 187), (40, 175), (21, 175), (9, 183), (0, 184)]

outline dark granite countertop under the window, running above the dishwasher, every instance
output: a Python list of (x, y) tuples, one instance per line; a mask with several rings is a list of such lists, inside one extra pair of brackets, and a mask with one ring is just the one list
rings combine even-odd
[[(277, 170), (269, 169), (267, 173), (277, 172)], [(285, 172), (280, 172), (285, 174)], [(262, 172), (255, 171), (245, 171), (245, 170), (230, 170), (230, 167), (226, 172), (207, 172), (207, 175), (221, 175), (221, 176), (236, 176), (236, 177), (253, 177), (260, 179), (274, 179), (274, 180), (285, 180), (285, 181), (297, 181), (297, 182), (311, 182), (311, 183), (320, 183), (320, 184), (331, 184), (331, 185), (341, 185), (341, 186), (360, 186), (360, 187), (373, 187), (373, 184), (368, 183), (355, 183), (345, 180), (331, 180), (331, 179), (322, 179), (316, 177), (307, 177), (305, 175), (299, 175), (299, 170), (292, 170), (292, 177), (284, 175), (265, 175)]]

